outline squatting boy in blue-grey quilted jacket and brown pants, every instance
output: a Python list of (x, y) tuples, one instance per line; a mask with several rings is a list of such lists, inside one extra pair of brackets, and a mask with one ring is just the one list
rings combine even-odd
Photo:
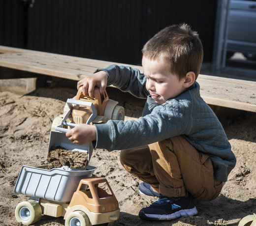
[[(78, 82), (85, 96), (115, 85), (147, 98), (138, 120), (78, 124), (66, 136), (95, 148), (122, 150), (121, 163), (141, 179), (139, 192), (158, 197), (139, 217), (169, 220), (197, 214), (193, 199), (213, 200), (236, 159), (216, 115), (202, 100), (195, 82), (203, 59), (201, 41), (188, 25), (162, 29), (144, 46), (144, 74), (111, 65)], [(129, 149), (127, 149), (129, 148)]]

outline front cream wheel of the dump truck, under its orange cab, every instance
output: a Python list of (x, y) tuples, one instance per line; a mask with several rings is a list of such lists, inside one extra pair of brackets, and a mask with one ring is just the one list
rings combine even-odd
[(88, 216), (83, 211), (74, 211), (67, 215), (65, 226), (91, 226)]

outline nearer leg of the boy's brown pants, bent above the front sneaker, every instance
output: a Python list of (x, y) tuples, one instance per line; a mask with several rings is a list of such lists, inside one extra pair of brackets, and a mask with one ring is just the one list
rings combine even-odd
[(159, 192), (167, 197), (181, 197), (189, 191), (196, 200), (213, 200), (222, 189), (214, 177), (212, 161), (198, 152), (182, 136), (149, 145)]

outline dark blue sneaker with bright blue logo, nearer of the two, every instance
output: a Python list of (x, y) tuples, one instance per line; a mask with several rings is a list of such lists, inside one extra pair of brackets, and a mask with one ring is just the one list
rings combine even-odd
[(172, 220), (195, 214), (197, 214), (197, 210), (191, 195), (188, 193), (186, 197), (180, 198), (160, 197), (158, 201), (139, 211), (139, 217), (141, 219), (151, 221)]

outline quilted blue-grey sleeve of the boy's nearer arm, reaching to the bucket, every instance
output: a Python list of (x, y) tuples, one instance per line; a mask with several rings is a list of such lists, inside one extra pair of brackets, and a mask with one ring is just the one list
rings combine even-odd
[(180, 117), (179, 112), (175, 110), (166, 112), (165, 107), (159, 105), (152, 113), (137, 120), (109, 120), (106, 124), (95, 124), (97, 131), (95, 148), (109, 151), (123, 150), (162, 141), (185, 134), (191, 124), (185, 125), (183, 122), (184, 119)]

